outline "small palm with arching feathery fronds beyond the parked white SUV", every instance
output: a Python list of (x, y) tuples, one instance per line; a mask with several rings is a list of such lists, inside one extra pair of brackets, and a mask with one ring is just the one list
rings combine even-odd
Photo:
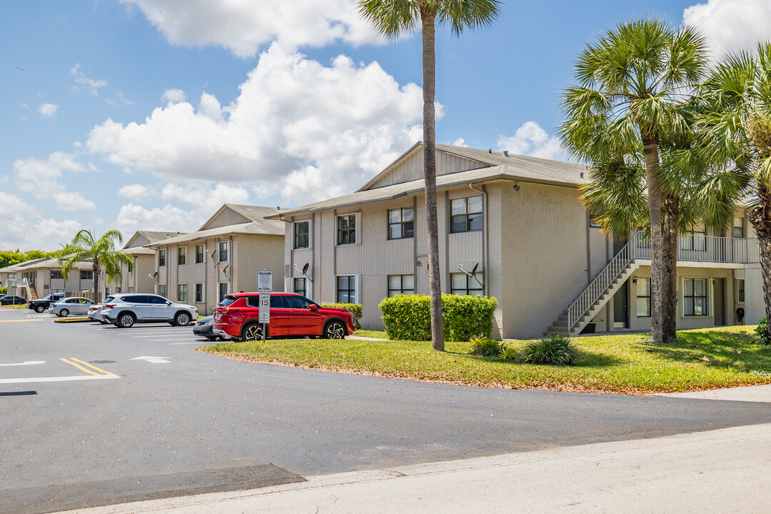
[(102, 237), (97, 239), (91, 230), (80, 230), (75, 234), (62, 250), (59, 250), (59, 265), (62, 267), (62, 276), (65, 279), (69, 275), (72, 267), (82, 261), (88, 261), (93, 264), (93, 291), (94, 301), (102, 300), (102, 293), (99, 291), (99, 274), (105, 271), (107, 281), (120, 282), (123, 272), (120, 270), (120, 264), (126, 264), (129, 271), (134, 269), (134, 260), (129, 254), (122, 250), (116, 250), (116, 242), (123, 243), (123, 234), (120, 230), (107, 230)]

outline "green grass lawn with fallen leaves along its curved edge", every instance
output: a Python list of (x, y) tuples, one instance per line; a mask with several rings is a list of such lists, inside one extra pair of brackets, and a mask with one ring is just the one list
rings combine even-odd
[[(579, 355), (574, 366), (479, 357), (469, 354), (469, 343), (446, 343), (446, 351), (433, 351), (426, 341), (277, 340), (216, 344), (200, 351), (389, 378), (639, 395), (771, 384), (771, 347), (756, 344), (753, 330), (742, 326), (682, 331), (678, 344), (650, 344), (647, 334), (575, 338)], [(508, 344), (522, 348), (525, 341)]]

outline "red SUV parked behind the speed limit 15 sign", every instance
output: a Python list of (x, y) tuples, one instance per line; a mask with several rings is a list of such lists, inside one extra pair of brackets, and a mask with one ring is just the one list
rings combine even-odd
[[(260, 341), (259, 301), (257, 293), (228, 294), (214, 308), (214, 335)], [(350, 311), (318, 307), (295, 293), (271, 293), (271, 322), (266, 337), (342, 339), (355, 331), (356, 318)]]

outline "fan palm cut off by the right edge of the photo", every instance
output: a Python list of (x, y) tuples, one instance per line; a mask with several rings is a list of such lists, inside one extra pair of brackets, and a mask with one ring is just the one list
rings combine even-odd
[(700, 89), (709, 158), (751, 180), (749, 221), (758, 237), (766, 319), (771, 319), (771, 42), (723, 58)]

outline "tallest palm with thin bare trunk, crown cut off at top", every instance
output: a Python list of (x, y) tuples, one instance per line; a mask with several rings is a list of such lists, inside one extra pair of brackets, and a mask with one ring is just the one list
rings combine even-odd
[(498, 0), (359, 0), (359, 12), (381, 35), (397, 39), (421, 29), (423, 35), (423, 168), (426, 182), (426, 231), (429, 250), (431, 341), (444, 351), (442, 281), (439, 274), (439, 223), (436, 213), (436, 25), (449, 25), (460, 36), (463, 29), (491, 25), (498, 17)]

